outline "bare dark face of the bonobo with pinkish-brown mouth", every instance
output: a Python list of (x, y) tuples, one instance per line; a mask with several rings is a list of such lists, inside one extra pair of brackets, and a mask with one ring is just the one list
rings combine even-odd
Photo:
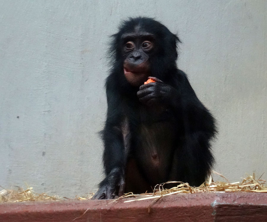
[(127, 81), (133, 86), (144, 84), (150, 76), (149, 57), (155, 47), (151, 33), (136, 30), (122, 35), (123, 70)]

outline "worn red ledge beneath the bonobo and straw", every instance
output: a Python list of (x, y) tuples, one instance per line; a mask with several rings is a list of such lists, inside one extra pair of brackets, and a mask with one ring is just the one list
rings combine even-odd
[(267, 221), (263, 193), (173, 194), (153, 203), (125, 200), (130, 199), (1, 203), (0, 221)]

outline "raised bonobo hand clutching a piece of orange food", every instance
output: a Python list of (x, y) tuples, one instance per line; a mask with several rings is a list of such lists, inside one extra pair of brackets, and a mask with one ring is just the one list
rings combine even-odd
[(156, 77), (148, 78), (156, 82), (150, 82), (139, 87), (137, 97), (141, 103), (148, 106), (160, 104), (162, 102), (171, 105), (171, 102), (176, 100), (177, 92), (174, 87), (163, 83)]

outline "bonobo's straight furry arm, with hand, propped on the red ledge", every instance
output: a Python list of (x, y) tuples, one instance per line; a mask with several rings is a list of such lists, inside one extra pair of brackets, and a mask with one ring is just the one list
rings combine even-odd
[(120, 95), (116, 92), (116, 85), (111, 77), (107, 78), (107, 120), (102, 130), (104, 141), (104, 170), (106, 177), (99, 184), (98, 192), (92, 199), (113, 199), (122, 196), (125, 187), (126, 153), (121, 132), (121, 102)]

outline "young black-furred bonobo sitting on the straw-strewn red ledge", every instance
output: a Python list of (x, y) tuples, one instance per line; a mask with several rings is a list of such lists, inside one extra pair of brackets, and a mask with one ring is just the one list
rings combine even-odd
[[(179, 38), (131, 18), (113, 37), (102, 138), (105, 179), (93, 199), (142, 193), (167, 181), (198, 186), (210, 172), (214, 118), (176, 66)], [(144, 84), (150, 78), (155, 82)]]

